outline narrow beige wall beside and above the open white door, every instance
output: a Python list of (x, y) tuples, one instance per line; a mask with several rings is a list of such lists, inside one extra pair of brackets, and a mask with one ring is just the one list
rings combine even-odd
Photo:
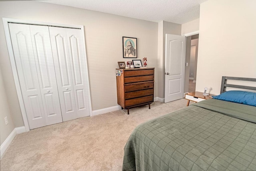
[(165, 35), (181, 35), (181, 24), (163, 21), (158, 25), (158, 29), (162, 29), (158, 30), (158, 41), (162, 41), (159, 42), (162, 46), (158, 46), (158, 97), (164, 98)]

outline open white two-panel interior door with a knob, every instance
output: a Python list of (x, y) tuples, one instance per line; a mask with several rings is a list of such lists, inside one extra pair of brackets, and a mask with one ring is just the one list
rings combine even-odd
[(185, 36), (166, 34), (164, 102), (182, 99), (184, 91)]

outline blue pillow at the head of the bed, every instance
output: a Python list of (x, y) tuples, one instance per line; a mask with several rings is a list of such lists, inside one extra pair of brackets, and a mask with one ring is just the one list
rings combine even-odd
[(242, 103), (256, 106), (256, 93), (248, 91), (226, 91), (220, 95), (212, 96), (214, 99)]

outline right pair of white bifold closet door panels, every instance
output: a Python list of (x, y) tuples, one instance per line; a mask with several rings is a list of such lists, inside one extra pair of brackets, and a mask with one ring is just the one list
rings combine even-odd
[(63, 121), (89, 116), (82, 31), (58, 27), (49, 31)]

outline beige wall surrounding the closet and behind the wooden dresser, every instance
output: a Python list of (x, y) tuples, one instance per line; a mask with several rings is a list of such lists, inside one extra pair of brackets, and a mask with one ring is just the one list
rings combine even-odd
[[(36, 1), (0, 2), (0, 17), (83, 25), (92, 110), (117, 105), (115, 68), (122, 56), (122, 36), (137, 38), (138, 59), (157, 68), (158, 23)], [(2, 21), (0, 67), (15, 127), (24, 126), (12, 75)], [(155, 70), (156, 80), (157, 70)], [(157, 82), (155, 83), (157, 84)], [(2, 89), (2, 86), (0, 87)], [(155, 90), (157, 97), (157, 89)], [(0, 97), (1, 101), (5, 100)], [(2, 118), (1, 118), (2, 119)]]

